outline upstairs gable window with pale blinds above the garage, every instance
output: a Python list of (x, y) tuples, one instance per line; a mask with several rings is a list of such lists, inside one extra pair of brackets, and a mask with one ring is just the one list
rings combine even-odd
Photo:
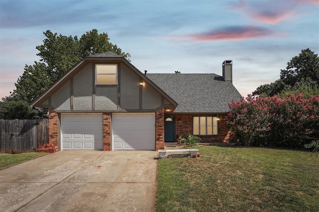
[(117, 64), (96, 64), (95, 82), (96, 84), (117, 84)]

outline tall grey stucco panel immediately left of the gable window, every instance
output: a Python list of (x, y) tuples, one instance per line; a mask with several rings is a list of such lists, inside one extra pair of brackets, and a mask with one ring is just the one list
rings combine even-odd
[(73, 77), (74, 110), (92, 110), (92, 71), (88, 64)]

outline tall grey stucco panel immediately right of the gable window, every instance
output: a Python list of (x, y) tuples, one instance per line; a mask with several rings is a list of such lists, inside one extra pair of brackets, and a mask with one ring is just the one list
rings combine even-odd
[(121, 108), (139, 109), (140, 77), (121, 64)]

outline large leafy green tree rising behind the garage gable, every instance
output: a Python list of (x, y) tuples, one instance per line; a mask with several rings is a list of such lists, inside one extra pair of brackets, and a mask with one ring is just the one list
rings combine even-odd
[(48, 77), (51, 83), (60, 78), (66, 71), (74, 66), (82, 58), (103, 52), (113, 52), (130, 61), (130, 54), (122, 52), (117, 45), (109, 42), (107, 33), (98, 34), (98, 30), (92, 29), (78, 39), (77, 36), (64, 36), (52, 33), (50, 30), (43, 32), (46, 39), (43, 44), (37, 46), (37, 56), (40, 61), (48, 66)]

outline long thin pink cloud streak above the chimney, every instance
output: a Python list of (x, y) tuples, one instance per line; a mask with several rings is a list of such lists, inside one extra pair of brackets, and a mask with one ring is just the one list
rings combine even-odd
[(196, 33), (185, 36), (168, 37), (171, 40), (193, 40), (199, 42), (206, 41), (242, 41), (250, 39), (260, 39), (274, 36), (271, 30), (256, 26), (233, 26), (212, 30), (204, 33)]

